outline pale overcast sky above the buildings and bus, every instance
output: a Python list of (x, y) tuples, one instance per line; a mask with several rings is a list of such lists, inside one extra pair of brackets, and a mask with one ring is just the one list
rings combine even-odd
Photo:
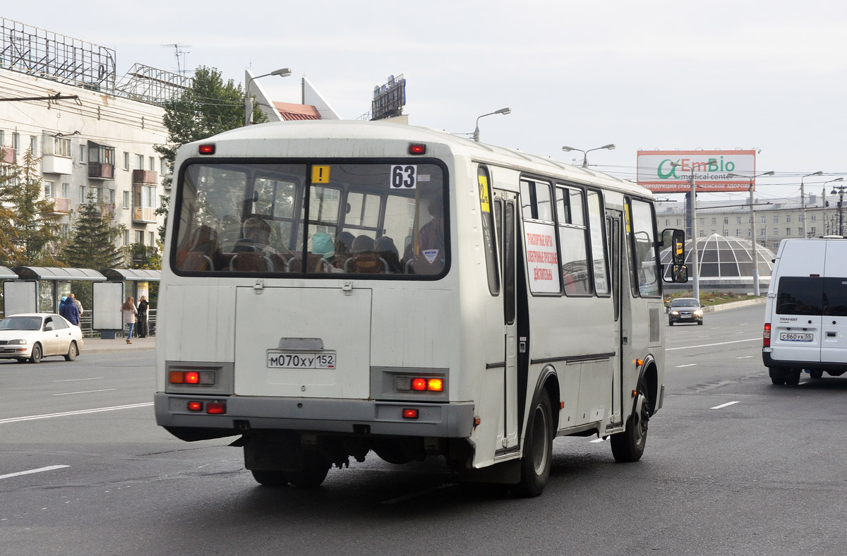
[(511, 107), (480, 120), (484, 142), (565, 162), (564, 145), (614, 143), (589, 162), (624, 179), (639, 149), (756, 148), (756, 170), (777, 173), (759, 196), (799, 195), (818, 170), (808, 192), (847, 181), (847, 3), (833, 0), (7, 4), (4, 18), (113, 48), (119, 76), (133, 63), (175, 72), (163, 45), (177, 43), (188, 69), (238, 83), (247, 67), (290, 67), (262, 80), (275, 100), (300, 102), (305, 75), (354, 119), (404, 74), (411, 124), (469, 135)]

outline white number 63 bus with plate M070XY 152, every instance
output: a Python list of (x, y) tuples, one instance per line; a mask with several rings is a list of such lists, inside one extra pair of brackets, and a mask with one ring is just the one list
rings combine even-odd
[(650, 191), (375, 122), (180, 148), (159, 289), (156, 419), (241, 435), (262, 484), (374, 451), (541, 493), (557, 436), (638, 460), (664, 394)]

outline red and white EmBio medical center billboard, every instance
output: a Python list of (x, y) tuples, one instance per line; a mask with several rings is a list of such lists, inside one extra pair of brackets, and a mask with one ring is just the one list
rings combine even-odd
[(754, 175), (756, 151), (638, 151), (638, 183), (651, 191), (690, 191), (692, 173), (698, 191), (749, 190), (750, 179), (728, 174)]

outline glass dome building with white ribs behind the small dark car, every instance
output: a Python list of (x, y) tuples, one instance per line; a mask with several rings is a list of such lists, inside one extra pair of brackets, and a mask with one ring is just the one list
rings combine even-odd
[[(693, 241), (685, 242), (685, 264), (689, 267), (688, 284), (665, 283), (666, 290), (692, 288), (692, 269), (694, 267)], [(750, 258), (750, 241), (748, 239), (728, 238), (711, 234), (697, 239), (697, 251), (700, 258), (700, 290), (713, 289), (733, 293), (753, 292), (753, 263)], [(662, 250), (662, 264), (665, 277), (671, 272), (670, 249)], [(759, 290), (767, 292), (771, 284), (773, 251), (756, 245), (756, 260), (759, 267)]]

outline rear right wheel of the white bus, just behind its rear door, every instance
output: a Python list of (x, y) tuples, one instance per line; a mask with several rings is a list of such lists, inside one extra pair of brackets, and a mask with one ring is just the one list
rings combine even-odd
[(529, 412), (521, 458), (521, 481), (513, 487), (515, 493), (529, 498), (544, 492), (553, 462), (553, 438), (550, 397), (542, 390)]

